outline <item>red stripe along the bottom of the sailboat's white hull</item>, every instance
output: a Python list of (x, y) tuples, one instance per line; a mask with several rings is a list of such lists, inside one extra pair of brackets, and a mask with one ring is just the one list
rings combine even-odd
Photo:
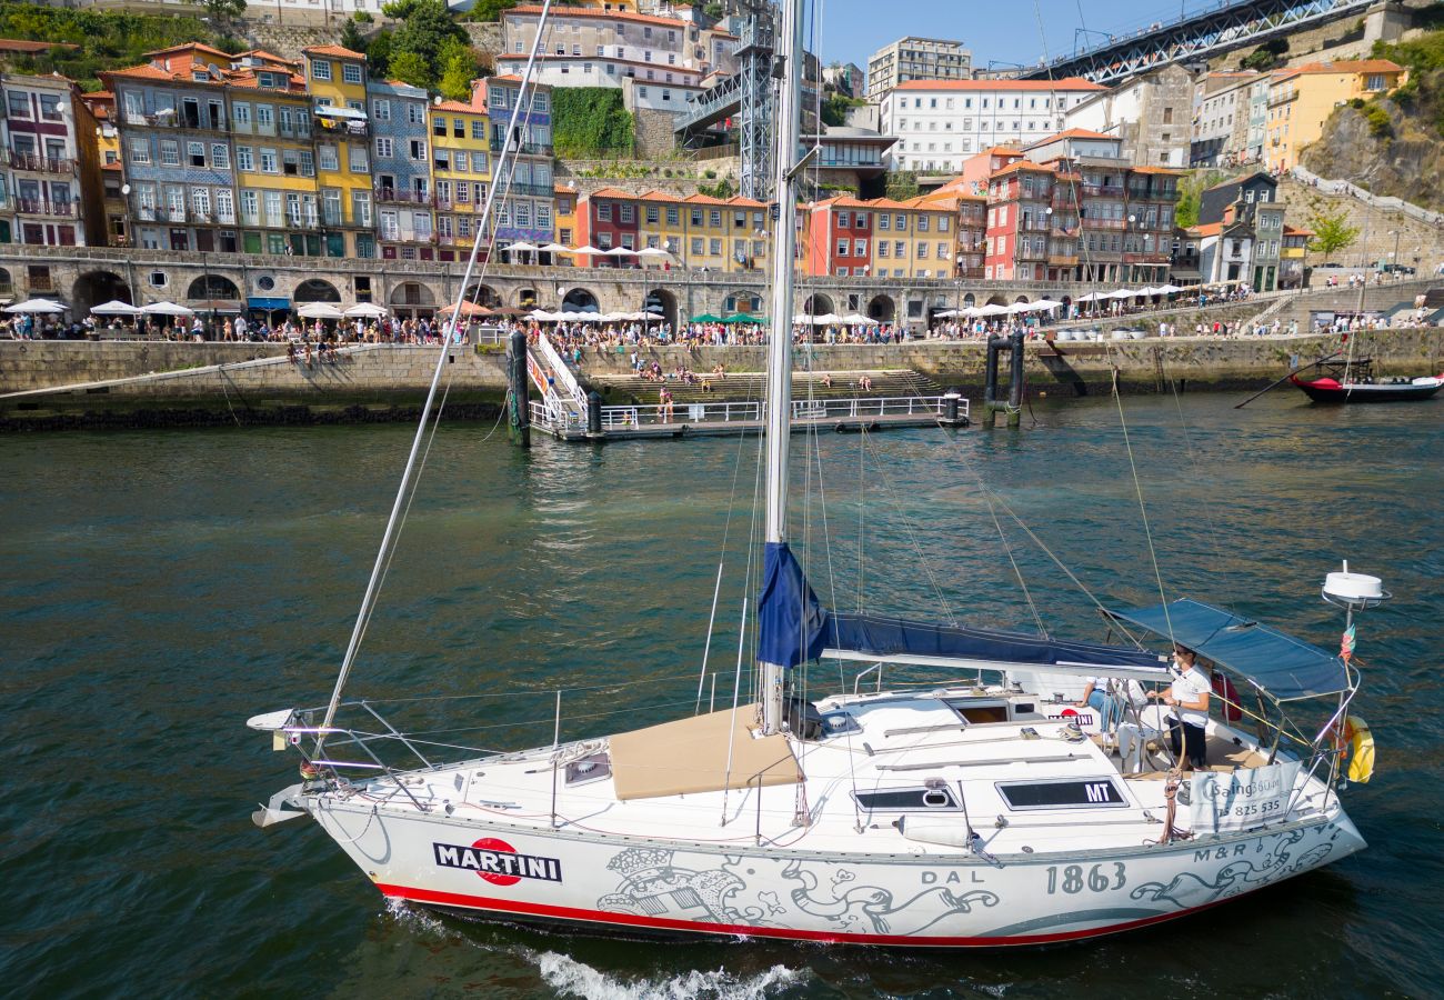
[(1178, 910), (1177, 913), (1160, 913), (1145, 916), (1141, 921), (1125, 921), (1087, 931), (1063, 931), (1058, 934), (1019, 934), (1008, 938), (949, 938), (930, 936), (914, 938), (902, 934), (835, 934), (832, 931), (788, 931), (784, 928), (757, 928), (747, 923), (708, 923), (703, 921), (677, 921), (666, 916), (638, 916), (634, 913), (611, 913), (606, 910), (588, 910), (575, 906), (547, 906), (544, 903), (523, 903), (513, 899), (495, 899), (491, 896), (471, 896), (466, 893), (445, 893), (435, 889), (412, 889), (409, 886), (377, 884), (383, 896), (393, 899), (407, 899), (416, 903), (433, 903), (438, 906), (461, 906), (465, 909), (495, 910), (500, 913), (520, 913), (553, 921), (580, 921), (586, 923), (611, 923), (631, 928), (651, 928), (658, 931), (687, 931), (692, 934), (719, 934), (738, 938), (781, 938), (786, 941), (822, 941), (827, 944), (853, 945), (907, 945), (910, 948), (989, 948), (999, 945), (1045, 945), (1058, 941), (1079, 941), (1082, 938), (1097, 938), (1119, 931), (1161, 923), (1187, 913), (1197, 913), (1219, 900)]

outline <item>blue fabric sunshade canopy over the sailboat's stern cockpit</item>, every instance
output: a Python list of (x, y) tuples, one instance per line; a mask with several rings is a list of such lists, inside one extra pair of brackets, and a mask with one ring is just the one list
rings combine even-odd
[(1349, 691), (1349, 669), (1337, 656), (1242, 618), (1183, 598), (1171, 604), (1109, 611), (1155, 636), (1171, 639), (1246, 678), (1275, 701), (1323, 698)]

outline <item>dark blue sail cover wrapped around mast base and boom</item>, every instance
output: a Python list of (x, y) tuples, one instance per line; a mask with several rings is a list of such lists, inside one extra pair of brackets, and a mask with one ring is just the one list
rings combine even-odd
[(762, 553), (762, 595), (757, 618), (758, 659), (781, 666), (797, 666), (817, 659), (825, 649), (836, 649), (868, 656), (988, 660), (1037, 668), (1126, 666), (1164, 672), (1157, 655), (1131, 647), (827, 611), (786, 542), (768, 542)]

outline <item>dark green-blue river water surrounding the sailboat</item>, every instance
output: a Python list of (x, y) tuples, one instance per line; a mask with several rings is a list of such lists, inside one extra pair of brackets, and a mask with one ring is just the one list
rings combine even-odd
[[(1393, 591), (1359, 626), (1379, 773), (1346, 803), (1367, 851), (1132, 936), (1008, 954), (615, 942), (387, 906), (309, 819), (251, 825), (295, 759), (244, 721), (329, 694), (410, 429), (0, 438), (0, 983), (36, 997), (1438, 996), (1444, 402), (1233, 402), (793, 438), (796, 535), (840, 607), (946, 604), (1018, 627), (1035, 608), (1100, 637), (1092, 601), (995, 506), (999, 536), (980, 483), (1105, 603), (1158, 598), (1149, 540), (1170, 598), (1323, 646), (1340, 623), (1318, 585), (1341, 558)], [(755, 455), (755, 439), (523, 454), (485, 423), (442, 426), (349, 692), (562, 686), (563, 738), (692, 711), (723, 553), (709, 671), (736, 658)], [(553, 707), (397, 711), (517, 746), (552, 738)]]

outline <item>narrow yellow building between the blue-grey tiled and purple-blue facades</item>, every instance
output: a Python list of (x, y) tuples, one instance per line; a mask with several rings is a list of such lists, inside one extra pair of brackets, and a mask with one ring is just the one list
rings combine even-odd
[[(472, 87), (471, 101), (432, 105), (432, 191), (436, 195), (439, 260), (465, 260), (491, 184), (485, 88)], [(484, 305), (494, 305), (487, 302)]]

